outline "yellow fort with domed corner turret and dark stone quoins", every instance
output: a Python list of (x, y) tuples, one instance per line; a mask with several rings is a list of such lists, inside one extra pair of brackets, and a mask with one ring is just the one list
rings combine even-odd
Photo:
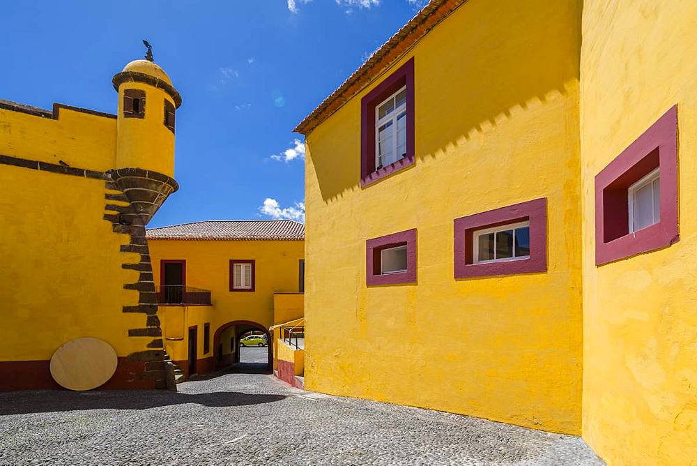
[(173, 380), (145, 225), (178, 188), (181, 96), (148, 60), (112, 84), (116, 114), (0, 100), (0, 390), (58, 388), (49, 360), (82, 337), (118, 356), (105, 388)]

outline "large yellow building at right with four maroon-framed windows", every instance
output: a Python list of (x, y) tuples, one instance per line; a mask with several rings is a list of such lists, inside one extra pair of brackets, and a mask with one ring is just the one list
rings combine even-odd
[(431, 0), (303, 120), (306, 388), (694, 464), (693, 3)]

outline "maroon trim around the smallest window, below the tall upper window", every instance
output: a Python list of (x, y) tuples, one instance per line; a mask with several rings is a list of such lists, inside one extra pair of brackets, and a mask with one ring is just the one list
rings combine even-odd
[[(382, 275), (375, 273), (379, 264), (380, 251), (394, 246), (406, 244), (406, 272)], [(375, 285), (406, 285), (416, 283), (416, 229), (404, 232), (378, 236), (365, 241), (365, 284)]]

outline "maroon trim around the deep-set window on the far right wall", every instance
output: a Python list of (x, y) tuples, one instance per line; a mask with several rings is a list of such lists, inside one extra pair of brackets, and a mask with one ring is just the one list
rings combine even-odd
[[(606, 215), (604, 211), (606, 204), (611, 202), (606, 188), (621, 181), (623, 176), (627, 178), (623, 184), (631, 184), (632, 179), (638, 181), (648, 174), (655, 168), (651, 158), (656, 150), (661, 176), (661, 220), (650, 227), (605, 242), (606, 229), (614, 228), (609, 222), (611, 215)], [(677, 197), (677, 105), (674, 105), (595, 176), (596, 266), (665, 248), (680, 241)], [(626, 197), (624, 202), (627, 202)], [(624, 215), (625, 218), (618, 218), (618, 222), (629, 221), (626, 208)], [(621, 209), (619, 216), (622, 216)]]

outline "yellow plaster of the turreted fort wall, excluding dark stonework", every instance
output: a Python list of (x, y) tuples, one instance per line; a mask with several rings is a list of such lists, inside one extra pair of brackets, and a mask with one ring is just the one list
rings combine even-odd
[[(128, 85), (154, 96), (146, 106), (148, 126), (139, 121), (139, 128), (118, 128), (116, 118), (65, 107), (57, 119), (0, 110), (0, 155), (95, 172), (132, 167), (171, 176), (174, 135), (162, 124), (163, 104), (158, 106), (164, 93)], [(121, 98), (114, 99), (121, 111)], [(134, 138), (150, 145), (129, 145)], [(121, 144), (121, 160), (118, 141), (127, 143)], [(116, 213), (105, 211), (107, 204), (128, 202), (106, 200), (107, 193), (121, 194), (107, 190), (102, 179), (0, 164), (0, 361), (46, 361), (66, 341), (85, 336), (106, 340), (118, 356), (152, 350), (147, 345), (153, 336), (128, 336), (129, 329), (146, 327), (146, 315), (123, 313), (123, 306), (138, 304), (139, 292), (123, 287), (136, 283), (139, 272), (122, 264), (141, 257), (121, 253), (130, 238), (115, 233), (103, 216)]]

